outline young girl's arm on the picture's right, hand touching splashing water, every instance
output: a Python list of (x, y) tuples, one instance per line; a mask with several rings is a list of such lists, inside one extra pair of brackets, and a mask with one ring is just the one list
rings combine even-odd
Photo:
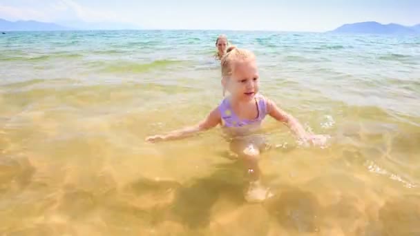
[(274, 119), (283, 122), (286, 124), (290, 130), (296, 135), (299, 141), (307, 142), (311, 141), (312, 144), (324, 145), (327, 141), (327, 137), (323, 135), (314, 135), (310, 132), (307, 132), (299, 121), (294, 118), (292, 115), (289, 115), (284, 110), (278, 108), (278, 106), (271, 100), (267, 99), (267, 112)]

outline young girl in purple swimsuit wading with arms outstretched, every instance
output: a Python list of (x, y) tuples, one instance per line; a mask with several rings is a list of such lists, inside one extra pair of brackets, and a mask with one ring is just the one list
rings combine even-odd
[(271, 194), (260, 185), (258, 156), (265, 148), (265, 141), (258, 138), (256, 131), (267, 115), (286, 124), (296, 137), (305, 143), (323, 144), (326, 138), (306, 132), (303, 126), (273, 101), (258, 93), (259, 76), (256, 58), (248, 50), (230, 47), (222, 57), (222, 86), (230, 93), (218, 107), (198, 124), (175, 130), (166, 135), (147, 137), (146, 141), (166, 141), (188, 137), (220, 124), (225, 134), (231, 137), (230, 148), (240, 159), (251, 181), (245, 194), (247, 201), (262, 201)]

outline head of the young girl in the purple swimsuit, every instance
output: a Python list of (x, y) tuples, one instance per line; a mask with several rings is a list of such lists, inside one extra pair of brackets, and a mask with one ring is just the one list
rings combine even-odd
[(237, 99), (252, 99), (259, 89), (259, 75), (256, 57), (249, 50), (236, 48), (227, 49), (222, 58), (223, 94), (229, 91)]

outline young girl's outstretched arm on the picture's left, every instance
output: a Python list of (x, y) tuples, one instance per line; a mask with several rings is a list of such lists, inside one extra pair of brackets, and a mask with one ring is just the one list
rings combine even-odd
[(198, 132), (202, 132), (205, 130), (209, 130), (220, 124), (220, 111), (218, 108), (212, 110), (207, 117), (200, 121), (198, 124), (194, 126), (189, 126), (185, 128), (181, 128), (179, 130), (173, 130), (165, 135), (154, 135), (146, 137), (146, 141), (149, 142), (156, 142), (156, 141), (167, 141), (167, 140), (175, 140), (175, 139), (183, 139), (185, 137), (189, 137), (195, 135)]

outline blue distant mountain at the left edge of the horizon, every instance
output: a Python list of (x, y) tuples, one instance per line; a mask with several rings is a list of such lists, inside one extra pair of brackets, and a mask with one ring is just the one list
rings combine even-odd
[(1, 31), (44, 31), (44, 30), (71, 30), (56, 23), (46, 23), (39, 21), (6, 21), (0, 19)]

